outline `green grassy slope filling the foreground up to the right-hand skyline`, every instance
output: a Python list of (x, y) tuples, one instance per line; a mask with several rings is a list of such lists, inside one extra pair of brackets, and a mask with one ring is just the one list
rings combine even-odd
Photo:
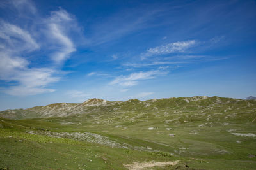
[[(189, 169), (255, 169), (256, 159), (248, 155), (256, 154), (256, 137), (231, 133), (255, 134), (256, 102), (186, 99), (161, 99), (147, 107), (133, 100), (62, 118), (1, 119), (0, 168), (125, 169), (123, 164), (132, 162), (180, 160), (177, 166), (162, 169), (186, 169), (185, 164)], [(42, 128), (93, 132), (130, 147), (26, 133), (44, 132)]]

